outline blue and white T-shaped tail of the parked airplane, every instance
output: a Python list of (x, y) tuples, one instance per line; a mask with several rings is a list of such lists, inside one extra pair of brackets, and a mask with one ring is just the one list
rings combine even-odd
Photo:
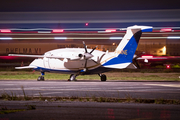
[(123, 69), (134, 67), (132, 63), (133, 56), (139, 43), (142, 32), (152, 32), (150, 26), (131, 26), (127, 28), (126, 34), (114, 51), (114, 56), (111, 57), (104, 67)]

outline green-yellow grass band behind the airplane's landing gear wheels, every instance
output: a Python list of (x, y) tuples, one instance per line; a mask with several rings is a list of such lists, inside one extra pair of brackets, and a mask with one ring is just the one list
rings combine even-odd
[[(180, 73), (107, 72), (107, 80), (180, 81)], [(0, 80), (37, 80), (39, 72), (0, 72)], [(69, 74), (46, 73), (45, 80), (68, 80)], [(79, 75), (77, 80), (100, 80), (98, 75)]]

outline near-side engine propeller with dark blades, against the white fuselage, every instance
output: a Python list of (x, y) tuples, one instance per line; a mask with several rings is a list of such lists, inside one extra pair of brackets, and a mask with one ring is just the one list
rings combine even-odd
[[(93, 57), (92, 53), (93, 53), (94, 50), (97, 48), (97, 46), (94, 47), (94, 48), (91, 50), (91, 52), (88, 52), (88, 51), (87, 51), (87, 46), (86, 46), (86, 44), (85, 44), (84, 41), (83, 41), (83, 45), (84, 45), (85, 53), (84, 53), (84, 55), (79, 54), (79, 57), (84, 57), (84, 59), (85, 59), (84, 71), (87, 71), (87, 70), (88, 70), (88, 69), (87, 69), (87, 60)], [(93, 60), (93, 61), (94, 61), (94, 60)]]

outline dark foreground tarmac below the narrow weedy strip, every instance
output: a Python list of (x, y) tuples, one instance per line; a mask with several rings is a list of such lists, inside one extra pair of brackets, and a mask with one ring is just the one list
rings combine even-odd
[[(97, 102), (39, 102), (0, 101), (8, 110), (24, 110), (0, 114), (0, 120), (179, 120), (179, 105), (97, 103)], [(34, 106), (29, 109), (28, 106)]]

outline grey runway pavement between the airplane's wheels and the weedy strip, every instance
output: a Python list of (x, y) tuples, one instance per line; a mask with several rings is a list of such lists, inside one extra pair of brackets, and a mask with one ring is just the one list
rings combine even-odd
[(141, 81), (34, 81), (1, 80), (0, 94), (58, 97), (118, 97), (145, 99), (180, 99), (180, 82), (141, 82)]

